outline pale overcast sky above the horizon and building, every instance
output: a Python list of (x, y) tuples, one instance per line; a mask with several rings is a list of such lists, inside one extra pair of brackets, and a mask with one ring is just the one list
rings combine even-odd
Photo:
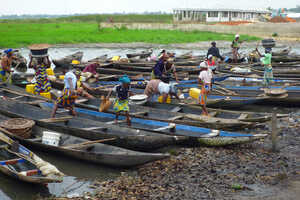
[(0, 15), (171, 12), (173, 8), (293, 8), (299, 0), (1, 0)]

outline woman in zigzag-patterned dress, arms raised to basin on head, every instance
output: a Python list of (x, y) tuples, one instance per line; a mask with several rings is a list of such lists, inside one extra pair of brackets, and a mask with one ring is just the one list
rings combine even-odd
[[(33, 59), (35, 61), (33, 61)], [(43, 92), (49, 92), (52, 87), (51, 83), (48, 80), (47, 76), (47, 68), (51, 66), (51, 62), (49, 60), (49, 57), (39, 57), (39, 58), (33, 58), (30, 56), (29, 61), (29, 68), (33, 68), (35, 70), (35, 86), (34, 86), (34, 93), (40, 94)]]

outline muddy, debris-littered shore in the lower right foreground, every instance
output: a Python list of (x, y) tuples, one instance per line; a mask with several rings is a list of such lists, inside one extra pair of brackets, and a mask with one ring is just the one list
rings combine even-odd
[[(269, 127), (252, 132), (270, 133)], [(299, 118), (281, 119), (278, 127), (277, 152), (270, 136), (228, 148), (172, 149), (170, 159), (140, 167), (136, 176), (96, 182), (98, 192), (90, 199), (297, 199)]]

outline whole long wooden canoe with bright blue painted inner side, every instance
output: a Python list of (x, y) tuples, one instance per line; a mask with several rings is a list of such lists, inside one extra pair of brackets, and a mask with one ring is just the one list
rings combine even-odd
[[(53, 107), (52, 103), (41, 103), (41, 104), (43, 104), (43, 107), (46, 108)], [(111, 114), (111, 113), (102, 113), (102, 112), (91, 111), (82, 108), (76, 108), (76, 112), (82, 118), (88, 118), (91, 120), (97, 120), (102, 122), (111, 122), (111, 120), (115, 119), (115, 114)], [(120, 116), (120, 120), (124, 120), (124, 119), (125, 119), (124, 116)], [(127, 124), (124, 121), (119, 122), (117, 125), (120, 128), (127, 127)], [(147, 130), (147, 131), (149, 130), (149, 131), (158, 132), (166, 135), (185, 136), (195, 140), (203, 139), (203, 138), (211, 138), (211, 139), (214, 138), (219, 141), (218, 146), (238, 144), (238, 142), (237, 143), (234, 142), (235, 139), (236, 141), (239, 142), (243, 141), (241, 143), (244, 143), (246, 141), (252, 142), (266, 136), (260, 134), (244, 134), (244, 133), (235, 133), (235, 132), (228, 132), (228, 131), (219, 131), (214, 129), (207, 129), (207, 128), (189, 126), (189, 125), (182, 125), (182, 124), (169, 124), (167, 122), (146, 120), (146, 119), (135, 118), (135, 117), (131, 118), (131, 128), (137, 130)], [(222, 141), (223, 137), (230, 138), (229, 140), (232, 141), (232, 143), (226, 142), (223, 143), (222, 145), (220, 141)], [(239, 139), (240, 137), (244, 139), (240, 140)], [(224, 141), (227, 141), (227, 139), (225, 139)], [(211, 144), (213, 144), (213, 142), (211, 142)]]

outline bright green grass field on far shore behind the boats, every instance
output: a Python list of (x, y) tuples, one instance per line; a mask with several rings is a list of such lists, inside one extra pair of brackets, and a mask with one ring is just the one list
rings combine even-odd
[[(35, 43), (131, 43), (157, 44), (191, 43), (199, 41), (227, 40), (232, 34), (200, 31), (129, 30), (123, 28), (98, 29), (97, 23), (0, 23), (0, 47), (23, 47)], [(241, 39), (260, 38), (242, 35)]]

